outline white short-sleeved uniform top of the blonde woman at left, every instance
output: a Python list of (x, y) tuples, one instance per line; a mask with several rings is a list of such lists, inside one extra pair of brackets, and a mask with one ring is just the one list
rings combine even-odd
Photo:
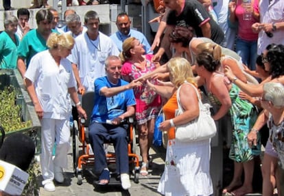
[(32, 57), (25, 77), (34, 83), (36, 95), (43, 107), (43, 118), (63, 120), (71, 114), (71, 99), (68, 89), (75, 87), (71, 62), (61, 59), (56, 64), (49, 50)]

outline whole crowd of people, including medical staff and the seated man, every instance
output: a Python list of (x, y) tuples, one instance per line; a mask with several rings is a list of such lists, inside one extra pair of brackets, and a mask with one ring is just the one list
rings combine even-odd
[[(86, 4), (98, 3), (102, 2)], [(49, 7), (47, 0), (34, 0), (34, 7), (42, 5)], [(54, 8), (38, 10), (36, 29), (30, 29), (25, 8), (18, 10), (17, 17), (4, 19), (0, 68), (19, 70), (40, 119), (45, 190), (56, 191), (54, 180), (64, 182), (70, 116), (87, 118), (80, 97), (91, 91), (95, 104), (88, 134), (100, 185), (110, 182), (104, 151), (104, 142), (110, 141), (121, 186), (131, 187), (125, 123), (131, 116), (139, 137), (140, 174), (149, 174), (149, 150), (162, 109), (165, 120), (159, 128), (167, 132), (168, 140), (158, 192), (215, 194), (210, 171), (214, 138), (190, 142), (175, 138), (176, 127), (199, 116), (202, 95), (213, 107), (217, 145), (229, 149), (234, 163), (233, 179), (222, 194), (243, 196), (255, 191), (255, 158), (263, 145), (262, 194), (273, 195), (277, 188), (283, 195), (283, 1), (164, 0), (163, 5), (165, 13), (152, 46), (143, 33), (130, 28), (126, 12), (117, 15), (117, 31), (110, 36), (99, 31), (99, 15), (93, 10), (84, 14), (82, 22), (75, 10), (66, 10), (62, 28)], [(169, 61), (161, 65), (163, 55)], [(178, 102), (184, 111), (180, 115)], [(222, 160), (218, 161), (223, 169)]]

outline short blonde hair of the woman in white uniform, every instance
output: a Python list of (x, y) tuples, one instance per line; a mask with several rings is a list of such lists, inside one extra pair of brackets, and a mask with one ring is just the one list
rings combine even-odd
[(51, 49), (58, 48), (73, 48), (75, 43), (74, 38), (69, 33), (51, 33), (47, 39), (47, 46)]

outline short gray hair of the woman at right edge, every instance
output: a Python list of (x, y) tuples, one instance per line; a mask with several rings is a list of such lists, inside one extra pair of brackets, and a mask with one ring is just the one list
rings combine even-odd
[(276, 108), (284, 107), (284, 86), (281, 83), (265, 83), (263, 98), (271, 101)]

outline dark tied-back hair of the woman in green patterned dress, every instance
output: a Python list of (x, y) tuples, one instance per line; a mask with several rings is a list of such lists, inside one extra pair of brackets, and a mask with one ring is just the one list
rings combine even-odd
[(209, 72), (215, 72), (218, 66), (220, 66), (220, 60), (214, 59), (210, 53), (202, 52), (196, 57), (198, 66), (204, 66)]

